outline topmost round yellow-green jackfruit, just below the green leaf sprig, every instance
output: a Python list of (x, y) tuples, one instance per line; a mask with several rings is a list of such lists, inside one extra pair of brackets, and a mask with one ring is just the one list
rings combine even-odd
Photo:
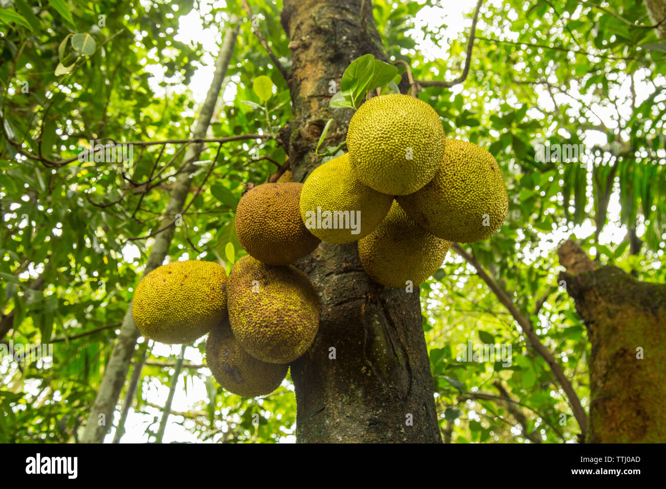
[(445, 140), (434, 108), (397, 93), (362, 104), (347, 131), (356, 178), (390, 195), (411, 194), (430, 182), (442, 161)]

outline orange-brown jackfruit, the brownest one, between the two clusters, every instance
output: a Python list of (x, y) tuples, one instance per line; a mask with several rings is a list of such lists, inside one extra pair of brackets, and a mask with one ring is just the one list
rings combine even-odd
[(320, 240), (300, 218), (303, 184), (261, 184), (236, 208), (236, 235), (249, 255), (269, 265), (288, 265), (309, 255)]

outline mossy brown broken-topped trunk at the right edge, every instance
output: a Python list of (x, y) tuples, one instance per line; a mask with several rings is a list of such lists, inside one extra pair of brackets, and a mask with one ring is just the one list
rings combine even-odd
[(558, 255), (591, 343), (587, 442), (666, 442), (666, 285), (597, 267), (571, 241)]

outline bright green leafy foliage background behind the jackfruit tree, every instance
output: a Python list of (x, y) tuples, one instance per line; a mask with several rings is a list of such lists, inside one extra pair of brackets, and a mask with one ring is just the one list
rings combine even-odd
[[(466, 63), (476, 2), (464, 4), (464, 17), (447, 5), (373, 1), (391, 61), (406, 61), (417, 80), (451, 81)], [(0, 361), (0, 442), (72, 442), (182, 157), (182, 144), (167, 144), (147, 147), (141, 158), (135, 148), (133, 162), (95, 164), (75, 159), (80, 148), (94, 138), (187, 138), (202, 100), (197, 87), (205, 92), (202, 80), (210, 79), (232, 15), (240, 33), (209, 136), (276, 134), (292, 116), (289, 92), (240, 2), (8, 0), (3, 7), (2, 321), (13, 325), (5, 341), (52, 343), (54, 355)], [(253, 0), (251, 8), (288, 69), (281, 2)], [(484, 1), (468, 77), (419, 95), (448, 136), (477, 142), (500, 162), (509, 218), (492, 239), (466, 249), (533, 321), (583, 407), (589, 346), (573, 301), (557, 285), (557, 244), (573, 236), (600, 263), (665, 281), (666, 46), (646, 25), (636, 0)], [(254, 90), (261, 76), (273, 84), (268, 100), (258, 93), (265, 98), (270, 84)], [(537, 144), (585, 144), (585, 154), (539, 162)], [(234, 236), (236, 203), (246, 183), (265, 182), (285, 158), (272, 140), (227, 143), (219, 154), (208, 146), (188, 201), (201, 192), (182, 216), (170, 259), (228, 267), (244, 253)], [(551, 371), (460, 255), (448, 255), (421, 297), (444, 440), (576, 440)], [(458, 361), (458, 345), (470, 339), (510, 344), (511, 366)], [(204, 341), (185, 350), (165, 441), (292, 441), (290, 381), (264, 399), (240, 399), (214, 383), (203, 351)], [(135, 363), (144, 352), (125, 440), (155, 440), (180, 348), (143, 341)]]

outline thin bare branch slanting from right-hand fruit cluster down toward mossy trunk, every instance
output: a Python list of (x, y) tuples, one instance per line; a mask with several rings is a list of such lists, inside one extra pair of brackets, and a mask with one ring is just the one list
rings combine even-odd
[(571, 386), (569, 379), (567, 379), (567, 377), (564, 375), (562, 367), (559, 366), (559, 363), (555, 361), (555, 358), (553, 357), (552, 353), (543, 345), (543, 343), (541, 343), (539, 336), (534, 332), (534, 328), (532, 327), (531, 321), (529, 321), (529, 319), (525, 317), (517, 309), (517, 307), (515, 307), (515, 304), (513, 303), (509, 295), (500, 287), (500, 285), (498, 285), (496, 281), (494, 281), (494, 279), (490, 275), (488, 275), (486, 270), (484, 270), (484, 267), (482, 267), (481, 263), (478, 261), (478, 259), (476, 259), (474, 255), (465, 251), (462, 247), (460, 247), (458, 243), (453, 243), (451, 247), (452, 249), (454, 249), (454, 251), (456, 251), (456, 253), (461, 255), (468, 263), (470, 263), (470, 265), (476, 268), (476, 273), (479, 275), (479, 277), (484, 282), (486, 282), (488, 288), (498, 297), (498, 299), (504, 305), (504, 307), (506, 307), (509, 310), (509, 312), (513, 316), (513, 319), (515, 319), (515, 321), (523, 330), (523, 333), (525, 333), (525, 336), (527, 337), (529, 343), (549, 365), (551, 371), (555, 375), (555, 378), (559, 382), (559, 385), (561, 385), (564, 393), (567, 395), (567, 399), (569, 399), (569, 403), (571, 404), (571, 409), (573, 410), (573, 415), (575, 416), (581, 428), (581, 436), (584, 439), (585, 434), (587, 432), (587, 415), (585, 414), (585, 410), (581, 406), (580, 399), (578, 399), (577, 394), (573, 390), (573, 387)]

